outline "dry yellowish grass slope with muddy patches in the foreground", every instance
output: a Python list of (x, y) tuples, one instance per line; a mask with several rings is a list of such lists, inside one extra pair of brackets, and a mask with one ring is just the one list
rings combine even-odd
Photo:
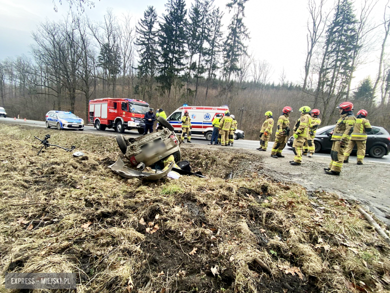
[[(253, 155), (184, 146), (207, 179), (143, 183), (107, 168), (113, 138), (0, 133), (2, 282), (42, 271), (76, 272), (77, 292), (389, 292), (389, 249), (356, 206), (259, 176)], [(86, 156), (36, 156), (46, 133)]]

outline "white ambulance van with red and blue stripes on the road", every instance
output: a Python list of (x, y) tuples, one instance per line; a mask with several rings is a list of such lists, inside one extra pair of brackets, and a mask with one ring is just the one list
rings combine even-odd
[(197, 107), (184, 105), (166, 118), (172, 124), (175, 133), (181, 133), (181, 116), (184, 115), (184, 110), (188, 110), (188, 115), (191, 118), (191, 136), (204, 136), (207, 140), (211, 140), (212, 120), (214, 120), (216, 114), (225, 115), (225, 111), (229, 108), (227, 106)]

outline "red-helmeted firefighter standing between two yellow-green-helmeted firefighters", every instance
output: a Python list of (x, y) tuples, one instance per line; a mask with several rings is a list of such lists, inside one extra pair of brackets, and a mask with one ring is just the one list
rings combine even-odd
[(290, 135), (290, 119), (289, 115), (292, 112), (291, 107), (284, 107), (282, 113), (277, 119), (277, 129), (275, 134), (275, 143), (272, 146), (271, 157), (272, 158), (284, 158), (281, 154), (284, 149), (288, 136)]

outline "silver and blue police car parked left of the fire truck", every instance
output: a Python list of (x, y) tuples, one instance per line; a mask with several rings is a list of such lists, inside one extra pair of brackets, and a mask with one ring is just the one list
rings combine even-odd
[(55, 127), (61, 129), (79, 129), (84, 130), (84, 120), (78, 118), (71, 112), (53, 111), (46, 117), (46, 127)]

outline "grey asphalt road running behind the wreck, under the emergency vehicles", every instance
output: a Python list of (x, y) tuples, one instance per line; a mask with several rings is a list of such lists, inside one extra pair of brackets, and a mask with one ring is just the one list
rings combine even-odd
[[(16, 119), (13, 118), (2, 118), (0, 117), (0, 123), (11, 123), (11, 124), (20, 124), (20, 125), (27, 125), (27, 126), (33, 126), (33, 127), (46, 127), (44, 121), (36, 121), (36, 120), (27, 120), (24, 121), (23, 119)], [(67, 130), (68, 132), (80, 132), (78, 130)], [(92, 133), (95, 135), (105, 135), (105, 136), (115, 136), (116, 133), (112, 129), (106, 129), (105, 131), (98, 131), (93, 126), (85, 125), (84, 127), (84, 133)], [(126, 130), (123, 135), (128, 137), (138, 137), (140, 134), (136, 130)], [(202, 137), (192, 137), (191, 142), (194, 144), (208, 144), (209, 141), (206, 141)], [(272, 148), (273, 142), (268, 143), (268, 151), (270, 154), (270, 150)], [(254, 150), (258, 148), (259, 142), (257, 140), (246, 140), (246, 139), (239, 139), (234, 141), (234, 147), (229, 148), (241, 148), (241, 149), (248, 149), (248, 150)], [(286, 147), (283, 152), (292, 154), (292, 149), (289, 147)], [(315, 153), (314, 156), (319, 157), (328, 157), (330, 158), (330, 154), (328, 153)], [(349, 162), (354, 162), (356, 160), (355, 156), (350, 156)], [(371, 158), (366, 156), (365, 160), (367, 162), (374, 162), (374, 163), (383, 163), (383, 164), (390, 164), (390, 155), (384, 156), (380, 159)]]

